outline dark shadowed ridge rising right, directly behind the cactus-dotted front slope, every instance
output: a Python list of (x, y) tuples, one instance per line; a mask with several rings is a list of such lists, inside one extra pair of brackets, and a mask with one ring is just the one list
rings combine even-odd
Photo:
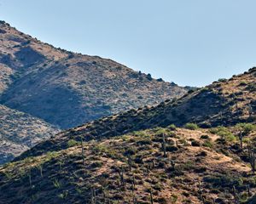
[[(213, 82), (206, 88), (167, 100), (154, 107), (144, 107), (89, 122), (59, 133), (53, 139), (38, 144), (23, 156), (38, 155), (47, 150), (67, 148), (67, 140), (108, 138), (135, 130), (183, 126), (187, 122), (201, 127), (231, 126), (238, 122), (256, 122), (256, 68), (230, 80)], [(22, 156), (21, 156), (22, 157)]]

